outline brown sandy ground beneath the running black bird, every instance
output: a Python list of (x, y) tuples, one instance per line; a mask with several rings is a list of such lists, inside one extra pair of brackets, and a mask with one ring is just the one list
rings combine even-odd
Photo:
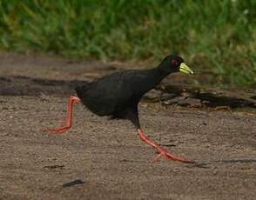
[(97, 117), (80, 103), (71, 130), (43, 131), (63, 123), (73, 80), (118, 67), (0, 58), (0, 199), (255, 199), (255, 109), (140, 103), (148, 137), (197, 162), (152, 163), (156, 152), (139, 141), (130, 122)]

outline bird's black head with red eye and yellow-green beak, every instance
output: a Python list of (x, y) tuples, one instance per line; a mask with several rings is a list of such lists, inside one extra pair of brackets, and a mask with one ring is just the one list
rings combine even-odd
[(182, 57), (176, 55), (169, 55), (159, 64), (159, 70), (165, 71), (165, 73), (170, 74), (173, 72), (184, 72), (186, 74), (193, 74), (193, 71), (186, 66)]

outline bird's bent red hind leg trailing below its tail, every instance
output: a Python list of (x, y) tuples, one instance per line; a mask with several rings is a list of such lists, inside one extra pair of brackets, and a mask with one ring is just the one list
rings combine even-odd
[(60, 133), (63, 133), (64, 131), (66, 131), (66, 130), (69, 130), (71, 128), (71, 124), (72, 124), (73, 103), (74, 102), (79, 102), (79, 101), (81, 101), (80, 98), (71, 96), (69, 98), (69, 103), (68, 103), (66, 124), (64, 126), (61, 126), (58, 129), (49, 129), (49, 130), (45, 130), (45, 131), (60, 134)]

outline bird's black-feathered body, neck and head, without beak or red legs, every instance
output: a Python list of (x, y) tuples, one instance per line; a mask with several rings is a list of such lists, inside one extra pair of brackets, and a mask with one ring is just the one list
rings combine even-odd
[[(165, 57), (158, 68), (153, 70), (123, 70), (101, 77), (77, 87), (77, 96), (98, 116), (130, 119), (139, 128), (138, 102), (164, 77), (179, 71), (178, 67), (172, 66), (174, 57)], [(177, 65), (183, 63), (181, 57), (175, 57), (175, 61)]]

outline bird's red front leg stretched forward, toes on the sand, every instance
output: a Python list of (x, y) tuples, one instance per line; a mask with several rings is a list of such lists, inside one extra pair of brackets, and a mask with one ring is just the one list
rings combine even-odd
[(159, 154), (158, 154), (157, 157), (155, 157), (155, 158), (153, 159), (153, 162), (158, 161), (158, 159), (163, 156), (163, 157), (166, 157), (166, 158), (171, 159), (171, 160), (173, 160), (173, 161), (179, 161), (179, 162), (181, 162), (181, 163), (195, 163), (194, 161), (190, 161), (190, 160), (187, 160), (187, 159), (185, 159), (185, 158), (178, 157), (178, 156), (175, 156), (175, 155), (173, 155), (173, 154), (168, 153), (167, 150), (165, 150), (164, 148), (158, 146), (156, 143), (153, 143), (148, 137), (146, 137), (146, 136), (145, 136), (145, 133), (144, 133), (143, 130), (141, 130), (141, 129), (138, 129), (138, 135), (139, 135), (139, 138), (140, 138), (143, 142), (149, 144), (150, 146), (152, 146), (153, 148), (155, 148), (156, 150), (158, 150), (158, 153), (159, 153)]

